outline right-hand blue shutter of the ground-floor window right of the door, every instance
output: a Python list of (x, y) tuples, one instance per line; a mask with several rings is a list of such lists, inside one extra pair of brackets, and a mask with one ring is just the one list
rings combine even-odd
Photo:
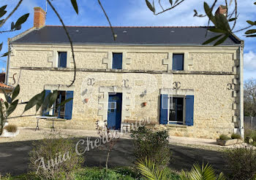
[(186, 125), (194, 124), (194, 95), (186, 96)]

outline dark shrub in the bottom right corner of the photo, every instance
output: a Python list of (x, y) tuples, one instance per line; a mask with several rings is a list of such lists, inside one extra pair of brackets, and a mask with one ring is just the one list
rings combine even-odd
[(252, 147), (230, 149), (227, 152), (227, 170), (231, 179), (252, 179), (256, 175), (256, 151)]

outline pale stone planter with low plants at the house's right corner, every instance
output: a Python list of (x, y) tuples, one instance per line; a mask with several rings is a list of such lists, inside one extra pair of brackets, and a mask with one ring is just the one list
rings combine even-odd
[(220, 135), (219, 138), (217, 138), (217, 144), (221, 146), (228, 146), (228, 145), (238, 144), (242, 142), (243, 141), (241, 139), (241, 136), (236, 133), (233, 133), (231, 135), (231, 138), (224, 134)]

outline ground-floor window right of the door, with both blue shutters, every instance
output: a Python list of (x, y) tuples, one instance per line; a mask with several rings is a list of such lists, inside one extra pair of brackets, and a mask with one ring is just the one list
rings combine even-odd
[(194, 125), (194, 95), (160, 95), (160, 124)]

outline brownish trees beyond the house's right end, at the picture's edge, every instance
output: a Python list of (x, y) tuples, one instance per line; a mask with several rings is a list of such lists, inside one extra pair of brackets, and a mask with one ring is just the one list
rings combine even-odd
[(256, 116), (256, 79), (244, 82), (244, 115)]

